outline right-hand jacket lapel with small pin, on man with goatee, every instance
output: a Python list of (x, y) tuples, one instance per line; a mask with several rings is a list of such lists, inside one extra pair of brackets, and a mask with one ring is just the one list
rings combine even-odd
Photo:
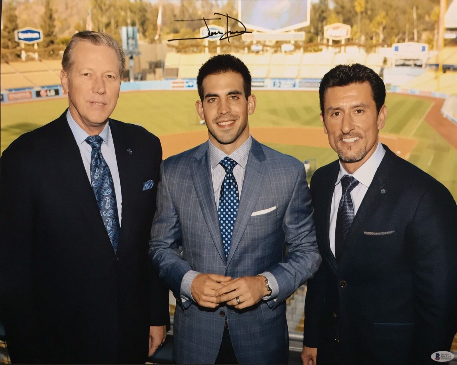
[(354, 217), (354, 221), (352, 222), (351, 228), (346, 236), (345, 249), (341, 255), (341, 260), (343, 259), (343, 255), (347, 247), (351, 245), (357, 235), (360, 235), (361, 229), (365, 223), (372, 219), (372, 215), (376, 212), (377, 208), (388, 195), (388, 193), (386, 194), (386, 190), (388, 189), (383, 190), (383, 188), (385, 188), (391, 181), (390, 173), (392, 171), (393, 152), (390, 151), (387, 146), (383, 145), (383, 147), (386, 150), (386, 153), (377, 168), (373, 181), (370, 184), (359, 209), (357, 210), (357, 214)]

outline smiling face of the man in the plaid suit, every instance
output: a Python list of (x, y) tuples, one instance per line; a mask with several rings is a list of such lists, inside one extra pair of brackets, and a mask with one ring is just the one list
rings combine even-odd
[(227, 72), (203, 79), (203, 101), (197, 100), (197, 113), (208, 128), (210, 141), (230, 154), (249, 138), (248, 115), (254, 113), (254, 95), (244, 95), (243, 77)]

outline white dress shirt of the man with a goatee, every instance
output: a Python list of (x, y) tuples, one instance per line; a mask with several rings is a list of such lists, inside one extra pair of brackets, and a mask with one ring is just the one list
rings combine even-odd
[(370, 158), (359, 167), (353, 174), (350, 174), (345, 170), (340, 161), (340, 172), (335, 183), (335, 190), (333, 191), (332, 205), (330, 208), (330, 228), (329, 228), (329, 240), (330, 250), (332, 250), (335, 256), (335, 228), (336, 228), (336, 217), (338, 215), (338, 206), (340, 205), (341, 195), (343, 188), (341, 187), (341, 178), (345, 175), (353, 176), (359, 183), (351, 191), (352, 205), (354, 206), (354, 216), (357, 214), (357, 210), (362, 203), (363, 197), (367, 193), (368, 187), (370, 186), (374, 174), (376, 173), (379, 164), (383, 160), (386, 150), (377, 143), (376, 150), (370, 156)]

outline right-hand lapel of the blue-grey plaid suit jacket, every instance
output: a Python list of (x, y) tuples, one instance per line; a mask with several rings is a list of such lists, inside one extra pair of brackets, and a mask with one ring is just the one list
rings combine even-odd
[(263, 189), (267, 172), (267, 164), (264, 163), (265, 160), (266, 157), (263, 153), (262, 146), (253, 138), (248, 162), (246, 164), (246, 172), (244, 173), (243, 188), (239, 198), (239, 208), (236, 215), (232, 240), (230, 242), (227, 266), (232, 260)]

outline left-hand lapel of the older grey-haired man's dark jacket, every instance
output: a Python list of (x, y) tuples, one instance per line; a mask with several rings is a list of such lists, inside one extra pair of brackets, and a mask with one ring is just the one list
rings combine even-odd
[(85, 216), (94, 229), (98, 240), (105, 241), (107, 247), (113, 252), (111, 241), (106, 233), (105, 224), (101, 219), (100, 210), (94, 191), (90, 185), (81, 153), (73, 133), (68, 125), (66, 110), (58, 120), (56, 120), (56, 136), (60, 136), (58, 143), (49, 143), (54, 149), (53, 156), (60, 165), (60, 171), (67, 177), (69, 184), (73, 186), (72, 193), (76, 196)]

